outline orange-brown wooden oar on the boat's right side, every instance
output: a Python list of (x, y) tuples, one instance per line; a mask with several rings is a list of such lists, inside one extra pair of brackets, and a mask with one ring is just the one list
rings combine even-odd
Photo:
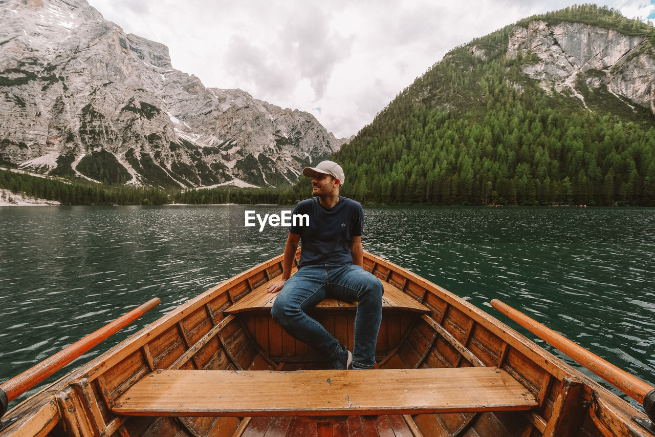
[(650, 420), (655, 423), (655, 388), (653, 386), (641, 381), (635, 375), (631, 375), (623, 369), (616, 367), (616, 365), (603, 360), (603, 358), (589, 352), (589, 350), (586, 350), (580, 344), (574, 343), (567, 339), (567, 337), (536, 322), (536, 320), (529, 318), (508, 304), (498, 301), (498, 299), (493, 299), (491, 306), (514, 320), (514, 322), (519, 323), (519, 325), (543, 341), (561, 350), (576, 360), (576, 362), (584, 365), (584, 367), (587, 367), (593, 373), (605, 379), (605, 381), (627, 394), (627, 396), (640, 402), (644, 406)]

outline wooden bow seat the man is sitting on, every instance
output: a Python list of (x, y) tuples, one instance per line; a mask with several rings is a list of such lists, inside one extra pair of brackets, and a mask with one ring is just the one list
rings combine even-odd
[[(292, 273), (295, 273), (297, 269), (294, 269)], [(253, 291), (248, 293), (246, 296), (242, 297), (239, 301), (234, 303), (232, 306), (227, 308), (225, 312), (230, 314), (237, 314), (244, 311), (253, 311), (253, 310), (271, 310), (275, 297), (278, 293), (269, 293), (267, 289), (269, 285), (278, 281), (277, 278), (260, 285), (255, 288)], [(398, 310), (409, 310), (415, 312), (429, 313), (430, 310), (422, 304), (421, 302), (412, 299), (406, 293), (403, 293), (400, 289), (394, 287), (388, 282), (382, 281), (384, 287), (384, 295), (382, 297), (382, 308), (383, 310), (388, 309), (398, 309)], [(335, 308), (357, 308), (357, 302), (346, 302), (339, 301), (338, 299), (324, 299), (316, 306), (318, 310), (333, 310)]]

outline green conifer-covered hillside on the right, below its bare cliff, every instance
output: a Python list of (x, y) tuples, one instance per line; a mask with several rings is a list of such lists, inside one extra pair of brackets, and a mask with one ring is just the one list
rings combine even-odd
[(571, 89), (531, 79), (524, 70), (537, 56), (507, 52), (515, 26), (535, 20), (639, 35), (638, 54), (655, 56), (652, 26), (591, 5), (457, 47), (335, 155), (342, 194), (389, 204), (655, 205), (651, 109), (611, 93), (594, 80), (599, 70)]

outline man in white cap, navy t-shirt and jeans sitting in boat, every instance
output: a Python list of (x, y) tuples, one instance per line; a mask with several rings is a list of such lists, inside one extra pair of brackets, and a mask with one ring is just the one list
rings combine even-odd
[[(268, 290), (282, 290), (271, 315), (291, 337), (329, 358), (333, 369), (348, 369), (351, 362), (353, 369), (369, 369), (375, 365), (383, 286), (362, 266), (362, 205), (339, 196), (344, 182), (339, 164), (322, 161), (316, 167), (305, 167), (303, 175), (312, 178), (312, 194), (316, 197), (300, 201), (293, 209), (293, 215), (309, 215), (309, 226), (291, 224), (282, 279)], [(299, 270), (290, 278), (299, 240), (303, 241)], [(327, 297), (359, 302), (352, 353), (307, 315)]]

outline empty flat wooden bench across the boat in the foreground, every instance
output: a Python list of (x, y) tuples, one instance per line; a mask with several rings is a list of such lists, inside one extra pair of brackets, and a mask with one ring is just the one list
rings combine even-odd
[(307, 371), (157, 370), (112, 411), (137, 416), (284, 416), (519, 411), (533, 394), (497, 367)]

